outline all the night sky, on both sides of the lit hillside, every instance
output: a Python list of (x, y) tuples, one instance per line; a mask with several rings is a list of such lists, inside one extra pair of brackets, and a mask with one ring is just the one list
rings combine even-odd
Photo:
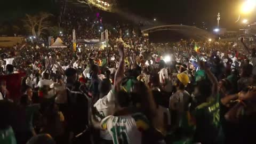
[[(243, 0), (116, 0), (119, 9), (133, 13), (147, 20), (157, 19), (163, 24), (183, 24), (201, 26), (206, 22), (209, 29), (217, 26), (220, 12), (220, 25), (236, 29), (238, 5)], [(0, 21), (15, 19), (24, 13), (37, 11), (55, 12), (54, 0), (2, 0), (0, 2)]]

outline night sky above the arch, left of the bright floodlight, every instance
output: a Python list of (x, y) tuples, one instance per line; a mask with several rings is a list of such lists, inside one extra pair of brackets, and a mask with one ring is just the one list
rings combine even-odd
[[(221, 27), (234, 29), (241, 0), (121, 0), (122, 7), (144, 17), (169, 24), (202, 25), (209, 28), (217, 25), (220, 12)], [(125, 9), (125, 8), (124, 8)]]

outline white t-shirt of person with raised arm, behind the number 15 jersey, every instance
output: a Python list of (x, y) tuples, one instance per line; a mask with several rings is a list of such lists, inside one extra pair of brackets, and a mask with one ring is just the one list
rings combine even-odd
[[(102, 99), (99, 99), (94, 104), (94, 107), (99, 111), (101, 117), (111, 115), (115, 109), (115, 95), (113, 90), (109, 91), (109, 93)], [(101, 121), (101, 118), (98, 117), (98, 120)], [(100, 137), (105, 140), (112, 140), (111, 135), (106, 130), (100, 131)]]

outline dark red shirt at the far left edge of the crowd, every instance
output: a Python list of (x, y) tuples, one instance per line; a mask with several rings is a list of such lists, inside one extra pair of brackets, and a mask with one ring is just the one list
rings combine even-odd
[(9, 99), (17, 100), (21, 97), (21, 78), (24, 76), (26, 76), (26, 73), (0, 76), (0, 81), (6, 82), (6, 89), (9, 91)]

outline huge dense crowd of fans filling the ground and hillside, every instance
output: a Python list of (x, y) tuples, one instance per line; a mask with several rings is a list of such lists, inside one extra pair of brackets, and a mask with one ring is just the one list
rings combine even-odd
[[(73, 29), (99, 39), (110, 27), (86, 13), (61, 16), (67, 45)], [(112, 28), (109, 47), (0, 49), (0, 143), (254, 143), (252, 43), (153, 44)]]

